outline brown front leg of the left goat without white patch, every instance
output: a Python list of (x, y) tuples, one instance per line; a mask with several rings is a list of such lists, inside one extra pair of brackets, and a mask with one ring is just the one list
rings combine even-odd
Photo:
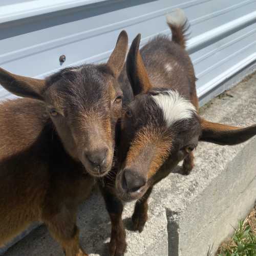
[(88, 256), (79, 245), (76, 212), (62, 210), (59, 214), (49, 216), (45, 223), (52, 237), (62, 246), (66, 256)]

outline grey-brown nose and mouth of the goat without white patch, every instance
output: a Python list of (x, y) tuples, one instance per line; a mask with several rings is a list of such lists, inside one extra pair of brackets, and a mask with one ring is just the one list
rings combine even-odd
[(89, 165), (89, 169), (100, 174), (105, 173), (109, 150), (107, 147), (100, 148), (94, 151), (84, 151), (84, 160)]

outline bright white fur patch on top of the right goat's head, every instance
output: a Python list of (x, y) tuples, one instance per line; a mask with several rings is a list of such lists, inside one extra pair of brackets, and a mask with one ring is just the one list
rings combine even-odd
[(174, 122), (191, 118), (196, 113), (195, 106), (177, 91), (168, 90), (152, 96), (159, 108), (163, 111), (163, 116), (167, 127)]

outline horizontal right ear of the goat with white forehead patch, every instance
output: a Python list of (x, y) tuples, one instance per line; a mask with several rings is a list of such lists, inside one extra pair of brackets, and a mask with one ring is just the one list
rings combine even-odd
[(219, 145), (236, 145), (256, 135), (256, 125), (245, 128), (212, 123), (201, 119), (202, 134), (200, 140)]

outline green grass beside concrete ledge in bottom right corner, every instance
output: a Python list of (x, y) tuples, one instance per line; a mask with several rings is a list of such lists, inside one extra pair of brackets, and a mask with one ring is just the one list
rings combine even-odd
[(256, 208), (239, 222), (232, 238), (222, 243), (218, 256), (256, 256)]

